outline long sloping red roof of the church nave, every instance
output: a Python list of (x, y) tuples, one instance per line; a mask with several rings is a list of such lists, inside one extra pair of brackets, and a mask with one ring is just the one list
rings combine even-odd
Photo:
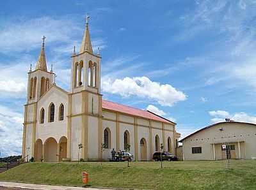
[(152, 112), (149, 112), (146, 110), (140, 110), (138, 108), (132, 108), (131, 106), (121, 105), (119, 103), (106, 101), (104, 99), (102, 99), (102, 108), (108, 109), (108, 110), (113, 110), (116, 112), (127, 113), (129, 115), (136, 115), (139, 117), (144, 117), (146, 119), (152, 119), (155, 121), (168, 122), (168, 123), (175, 124), (174, 122), (169, 121), (168, 119), (165, 119), (159, 115), (156, 115), (156, 113), (152, 113)]

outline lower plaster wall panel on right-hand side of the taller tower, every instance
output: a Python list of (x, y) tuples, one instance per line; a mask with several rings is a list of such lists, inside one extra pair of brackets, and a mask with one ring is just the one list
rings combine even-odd
[(98, 159), (98, 118), (88, 117), (88, 159)]

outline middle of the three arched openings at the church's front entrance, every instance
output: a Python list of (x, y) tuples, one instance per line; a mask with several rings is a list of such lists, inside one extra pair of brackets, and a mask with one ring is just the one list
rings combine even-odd
[(44, 161), (58, 161), (58, 145), (54, 138), (50, 137), (44, 143)]

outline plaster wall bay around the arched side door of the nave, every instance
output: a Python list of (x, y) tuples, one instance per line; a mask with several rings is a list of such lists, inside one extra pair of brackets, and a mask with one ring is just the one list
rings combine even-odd
[(138, 160), (141, 160), (141, 152), (140, 152), (140, 140), (141, 138), (145, 138), (147, 142), (147, 160), (151, 159), (150, 155), (150, 144), (149, 144), (149, 128), (145, 128), (143, 126), (138, 126)]

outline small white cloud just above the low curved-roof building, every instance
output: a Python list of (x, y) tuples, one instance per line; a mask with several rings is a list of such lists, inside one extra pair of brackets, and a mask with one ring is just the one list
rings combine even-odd
[(218, 111), (211, 111), (209, 112), (209, 115), (211, 115), (213, 118), (211, 119), (212, 122), (223, 122), (226, 118), (230, 118), (234, 121), (238, 122), (251, 122), (256, 124), (256, 116), (249, 115), (248, 113), (244, 112), (237, 112), (230, 114), (223, 110)]

